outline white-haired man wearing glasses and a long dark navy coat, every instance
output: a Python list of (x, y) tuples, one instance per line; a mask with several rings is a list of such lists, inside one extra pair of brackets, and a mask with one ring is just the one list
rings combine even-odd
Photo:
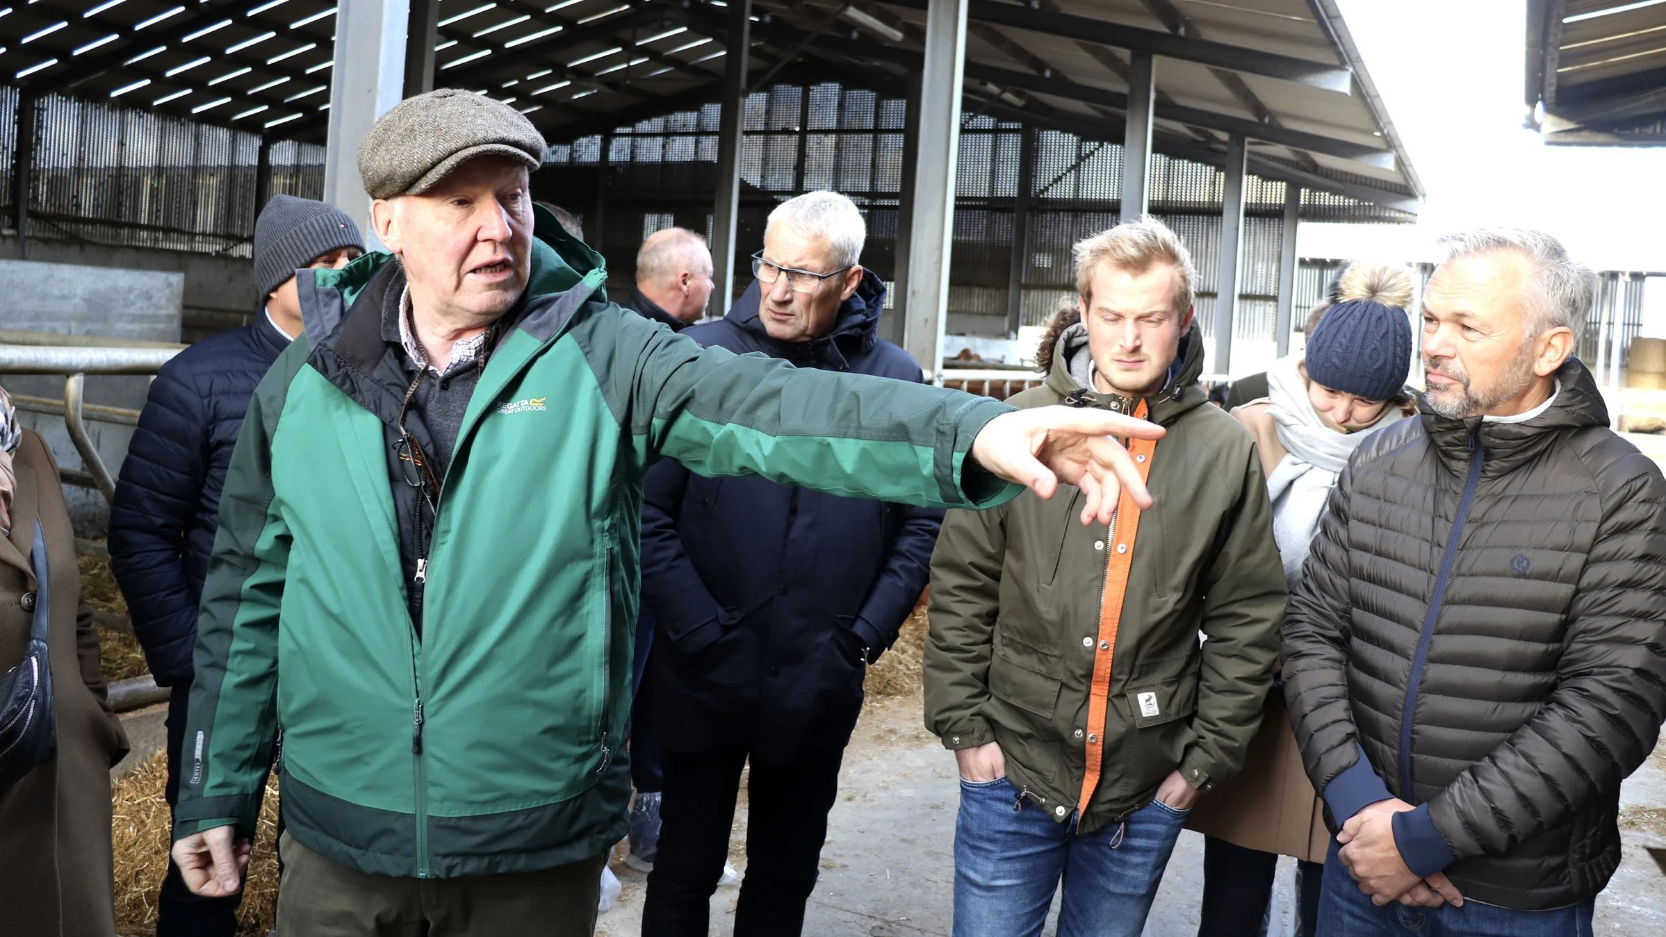
[[(683, 335), (798, 368), (920, 383), (875, 330), (885, 281), (860, 261), (861, 211), (811, 191), (770, 213), (756, 280)], [(741, 769), (746, 877), (735, 932), (790, 937), (816, 884), (866, 666), (926, 584), (943, 513), (763, 478), (655, 466), (643, 491), (643, 602), (663, 794), (643, 934), (706, 934)]]

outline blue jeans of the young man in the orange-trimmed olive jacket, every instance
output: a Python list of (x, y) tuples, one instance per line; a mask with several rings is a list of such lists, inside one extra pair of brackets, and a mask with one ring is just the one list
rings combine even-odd
[(955, 937), (1035, 937), (1060, 879), (1058, 937), (1138, 937), (1186, 812), (1158, 801), (1123, 822), (1076, 832), (1023, 801), (1006, 779), (960, 782)]

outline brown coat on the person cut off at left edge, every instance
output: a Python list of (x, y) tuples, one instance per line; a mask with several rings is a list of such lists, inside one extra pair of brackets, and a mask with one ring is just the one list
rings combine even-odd
[(32, 431), (17, 449), (12, 536), (0, 539), (0, 672), (28, 646), (23, 596), (37, 589), (30, 568), (35, 519), (47, 541), (53, 601), (47, 647), (57, 752), (0, 794), (0, 914), (7, 934), (97, 937), (115, 934), (110, 857), (110, 766), (127, 736), (105, 702), (98, 636), (83, 602), (75, 534), (58, 484), (58, 464)]

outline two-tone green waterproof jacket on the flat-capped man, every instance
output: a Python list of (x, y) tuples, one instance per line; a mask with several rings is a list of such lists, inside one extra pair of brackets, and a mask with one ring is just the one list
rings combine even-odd
[(458, 877), (600, 855), (626, 829), (650, 463), (923, 506), (1016, 493), (966, 461), (1008, 406), (701, 348), (608, 303), (600, 255), (538, 211), (446, 466), (420, 631), (388, 459), (405, 388), (367, 351), (403, 271), (382, 253), (302, 271), (307, 336), (257, 389), (220, 503), (177, 837), (253, 829), (282, 724), (288, 830), (335, 862)]

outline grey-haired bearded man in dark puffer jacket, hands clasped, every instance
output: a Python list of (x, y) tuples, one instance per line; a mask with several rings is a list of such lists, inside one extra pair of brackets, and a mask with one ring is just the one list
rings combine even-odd
[(1539, 231), (1443, 243), (1423, 416), (1354, 449), (1284, 621), (1339, 825), (1318, 929), (1589, 934), (1666, 716), (1666, 481), (1571, 356), (1589, 268)]

